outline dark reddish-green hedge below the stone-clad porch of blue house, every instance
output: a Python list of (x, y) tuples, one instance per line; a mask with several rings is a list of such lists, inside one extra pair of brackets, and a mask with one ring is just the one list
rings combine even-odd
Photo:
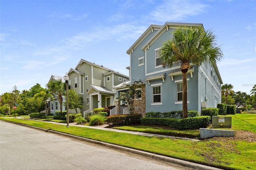
[(127, 114), (127, 115), (112, 115), (106, 117), (108, 123), (113, 124), (122, 124), (122, 125), (132, 125), (140, 124), (140, 119), (142, 118), (141, 114)]

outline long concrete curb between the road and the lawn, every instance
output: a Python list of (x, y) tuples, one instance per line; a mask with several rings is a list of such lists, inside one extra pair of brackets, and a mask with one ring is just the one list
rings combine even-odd
[[(5, 120), (0, 119), (0, 121), (5, 121)], [(203, 170), (222, 170), (220, 168), (214, 168), (214, 167), (211, 167), (211, 166), (197, 164), (197, 163), (194, 163), (194, 162), (188, 162), (186, 160), (180, 160), (180, 159), (171, 158), (171, 157), (168, 157), (168, 156), (163, 156), (163, 155), (158, 155), (158, 154), (154, 154), (154, 153), (150, 153), (150, 152), (145, 152), (145, 151), (142, 151), (142, 150), (127, 148), (127, 147), (119, 146), (119, 145), (116, 145), (116, 144), (110, 144), (110, 143), (101, 142), (101, 141), (98, 141), (98, 140), (83, 138), (83, 137), (75, 136), (75, 135), (72, 135), (72, 134), (66, 134), (66, 133), (57, 132), (57, 131), (54, 131), (54, 130), (48, 130), (48, 129), (44, 129), (44, 128), (33, 127), (33, 126), (30, 126), (30, 125), (20, 124), (20, 123), (16, 123), (16, 122), (10, 122), (10, 121), (6, 121), (6, 122), (14, 123), (14, 124), (17, 124), (17, 125), (23, 125), (23, 126), (26, 126), (26, 127), (34, 128), (34, 129), (37, 129), (37, 130), (42, 130), (42, 131), (45, 131), (45, 132), (51, 132), (51, 133), (54, 133), (54, 134), (58, 134), (58, 135), (62, 135), (62, 136), (70, 137), (70, 138), (75, 138), (75, 139), (86, 141), (86, 142), (91, 142), (93, 144), (98, 144), (98, 145), (101, 145), (101, 146), (106, 146), (106, 147), (109, 147), (109, 148), (122, 150), (124, 152), (137, 154), (139, 156), (144, 156), (144, 157), (151, 158), (151, 159), (154, 159), (154, 160), (161, 160), (161, 161), (164, 161), (164, 162), (180, 164), (182, 166), (186, 166), (188, 168), (193, 168), (195, 170), (202, 170), (202, 169)]]

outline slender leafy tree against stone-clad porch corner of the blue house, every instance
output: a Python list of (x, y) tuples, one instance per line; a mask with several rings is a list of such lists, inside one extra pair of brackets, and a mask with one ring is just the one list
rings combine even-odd
[(132, 83), (126, 84), (126, 88), (128, 88), (125, 92), (120, 93), (119, 101), (125, 101), (126, 105), (129, 108), (129, 113), (132, 114), (134, 110), (134, 99), (138, 98), (139, 95), (141, 95), (140, 90), (136, 89), (142, 89), (142, 81), (135, 81), (133, 80)]

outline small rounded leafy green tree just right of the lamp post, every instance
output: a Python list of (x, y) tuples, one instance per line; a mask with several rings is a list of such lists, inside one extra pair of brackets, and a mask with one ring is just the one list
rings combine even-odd
[[(84, 100), (83, 98), (76, 93), (76, 91), (70, 89), (68, 90), (68, 108), (74, 109), (77, 113), (77, 109), (83, 108)], [(66, 106), (66, 101), (64, 102), (64, 105)], [(65, 107), (66, 108), (66, 107)]]

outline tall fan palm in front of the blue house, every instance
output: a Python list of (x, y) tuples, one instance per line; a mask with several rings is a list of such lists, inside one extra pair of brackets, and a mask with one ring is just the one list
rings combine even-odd
[(172, 67), (181, 63), (182, 72), (182, 111), (183, 118), (188, 117), (187, 105), (187, 72), (190, 62), (201, 65), (204, 62), (216, 63), (223, 57), (220, 46), (217, 46), (216, 36), (211, 30), (203, 27), (182, 27), (173, 32), (172, 40), (164, 43), (160, 49), (163, 67)]

